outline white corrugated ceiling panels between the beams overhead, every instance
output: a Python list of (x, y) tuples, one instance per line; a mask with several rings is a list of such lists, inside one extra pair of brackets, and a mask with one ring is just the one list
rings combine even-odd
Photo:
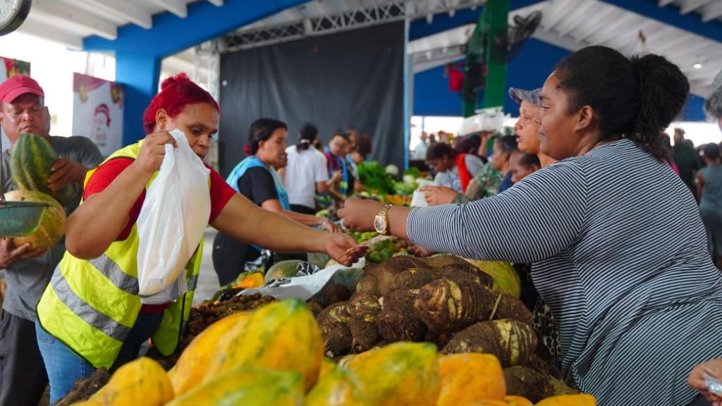
[[(33, 0), (30, 14), (19, 28), (71, 48), (81, 48), (82, 39), (99, 35), (113, 40), (118, 27), (134, 24), (152, 27), (152, 16), (170, 12), (186, 17), (188, 4), (198, 0)], [(201, 0), (206, 1), (206, 0)], [(222, 6), (222, 0), (207, 0)], [(269, 1), (269, 0), (257, 0)], [(315, 0), (268, 17), (241, 30), (290, 24), (323, 14), (336, 14), (352, 9), (373, 7), (391, 0)], [(417, 7), (414, 15), (424, 9), (433, 10), (443, 4), (449, 9), (469, 7), (483, 0), (409, 0)], [(641, 0), (630, 0), (641, 1)], [(659, 7), (676, 7), (682, 14), (695, 13), (700, 24), (722, 20), (722, 0), (658, 0)], [(547, 0), (514, 14), (541, 10), (544, 17), (534, 36), (562, 48), (575, 50), (591, 44), (617, 48), (623, 53), (653, 52), (667, 56), (679, 66), (692, 84), (692, 92), (705, 96), (718, 69), (722, 67), (722, 43), (666, 25), (657, 20), (614, 7), (599, 0)], [(510, 16), (510, 18), (513, 17)], [(429, 53), (458, 46), (469, 33), (466, 27), (448, 35), (436, 35), (426, 43), (412, 43), (415, 53)], [(644, 41), (640, 40), (644, 38)], [(424, 41), (424, 40), (420, 40)], [(188, 55), (186, 61), (192, 59)], [(700, 64), (696, 69), (695, 64)]]

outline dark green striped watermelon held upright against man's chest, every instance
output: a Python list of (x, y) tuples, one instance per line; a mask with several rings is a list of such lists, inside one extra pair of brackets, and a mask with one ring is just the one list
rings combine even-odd
[(12, 148), (10, 170), (12, 180), (20, 190), (40, 191), (69, 206), (73, 201), (74, 189), (66, 185), (58, 191), (48, 187), (51, 167), (58, 160), (50, 142), (35, 134), (22, 134)]

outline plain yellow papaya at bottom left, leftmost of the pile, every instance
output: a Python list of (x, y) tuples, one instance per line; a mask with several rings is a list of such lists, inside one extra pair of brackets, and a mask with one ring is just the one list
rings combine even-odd
[(165, 369), (142, 357), (121, 366), (90, 400), (103, 406), (160, 406), (173, 399)]

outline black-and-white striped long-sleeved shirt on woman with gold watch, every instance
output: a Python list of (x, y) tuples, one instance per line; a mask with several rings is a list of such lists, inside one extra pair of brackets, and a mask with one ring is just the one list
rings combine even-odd
[(722, 356), (722, 274), (695, 199), (630, 140), (488, 199), (415, 209), (406, 226), (437, 251), (532, 262), (562, 372), (600, 406), (686, 405), (692, 366)]

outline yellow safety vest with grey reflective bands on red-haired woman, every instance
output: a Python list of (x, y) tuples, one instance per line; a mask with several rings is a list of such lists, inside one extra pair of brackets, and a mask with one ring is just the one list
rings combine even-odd
[[(124, 147), (105, 162), (116, 157), (136, 159), (141, 145), (142, 141)], [(88, 171), (85, 183), (96, 169)], [(113, 365), (142, 307), (138, 245), (138, 230), (133, 225), (128, 238), (113, 241), (95, 259), (77, 259), (66, 251), (38, 303), (40, 325), (95, 368)], [(153, 344), (163, 355), (173, 353), (186, 329), (202, 252), (203, 240), (186, 265), (188, 292), (170, 303), (153, 334)]]

